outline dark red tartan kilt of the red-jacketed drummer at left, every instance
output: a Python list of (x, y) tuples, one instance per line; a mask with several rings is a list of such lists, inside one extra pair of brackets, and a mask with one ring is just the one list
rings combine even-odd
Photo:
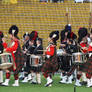
[(15, 55), (16, 70), (14, 70), (13, 66), (11, 66), (8, 70), (13, 71), (14, 74), (18, 74), (19, 72), (21, 72), (27, 57), (21, 51), (16, 52), (14, 55)]

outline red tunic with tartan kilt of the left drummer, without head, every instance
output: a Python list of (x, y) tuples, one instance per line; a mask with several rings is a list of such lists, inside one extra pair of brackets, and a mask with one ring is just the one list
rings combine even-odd
[[(5, 44), (4, 44), (5, 45)], [(6, 47), (6, 45), (4, 46)], [(12, 41), (10, 47), (6, 47), (6, 51), (12, 54), (13, 66), (9, 68), (14, 74), (18, 74), (26, 61), (26, 56), (22, 53), (18, 39)], [(14, 67), (15, 66), (15, 67)]]

